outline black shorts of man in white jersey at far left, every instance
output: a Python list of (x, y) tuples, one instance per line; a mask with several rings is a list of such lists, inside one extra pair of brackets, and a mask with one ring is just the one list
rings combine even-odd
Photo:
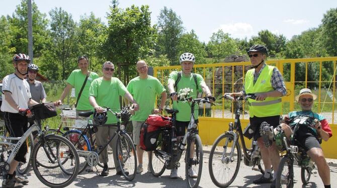
[[(21, 137), (27, 131), (27, 116), (21, 116), (18, 113), (5, 112), (4, 120), (11, 137)], [(17, 140), (13, 142), (16, 143)], [(27, 144), (22, 144), (14, 159), (19, 162), (26, 162), (26, 154)]]

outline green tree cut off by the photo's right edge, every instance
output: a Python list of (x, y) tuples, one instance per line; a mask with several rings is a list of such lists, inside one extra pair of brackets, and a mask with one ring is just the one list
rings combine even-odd
[(330, 9), (322, 19), (322, 39), (327, 53), (337, 56), (337, 9)]

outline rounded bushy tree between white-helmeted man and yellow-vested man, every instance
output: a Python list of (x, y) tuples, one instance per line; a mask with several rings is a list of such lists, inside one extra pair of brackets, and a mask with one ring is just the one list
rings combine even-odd
[(211, 57), (219, 61), (221, 58), (238, 53), (238, 48), (234, 39), (230, 38), (228, 33), (222, 30), (213, 33), (211, 40), (207, 44)]

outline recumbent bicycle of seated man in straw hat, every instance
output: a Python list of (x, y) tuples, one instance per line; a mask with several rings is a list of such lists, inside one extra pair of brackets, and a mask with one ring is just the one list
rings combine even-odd
[(279, 148), (286, 151), (286, 154), (282, 157), (279, 168), (276, 173), (276, 187), (293, 187), (294, 186), (294, 160), (297, 161), (298, 165), (301, 167), (301, 180), (303, 184), (307, 184), (310, 180), (312, 170), (315, 168), (314, 163), (307, 155), (303, 147), (298, 143), (295, 135), (300, 128), (300, 126), (313, 127), (315, 125), (315, 118), (307, 115), (301, 115), (293, 117), (289, 122), (294, 122), (295, 125), (291, 126), (293, 128), (293, 133), (289, 139), (284, 136), (284, 131), (278, 127), (277, 130), (280, 132), (275, 140)]

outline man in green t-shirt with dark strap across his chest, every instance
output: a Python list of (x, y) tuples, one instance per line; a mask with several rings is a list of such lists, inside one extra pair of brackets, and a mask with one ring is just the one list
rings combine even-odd
[[(77, 65), (79, 69), (73, 70), (67, 79), (67, 85), (65, 86), (61, 97), (56, 101), (56, 105), (62, 105), (62, 101), (68, 95), (72, 87), (75, 88), (75, 96), (77, 102), (76, 106), (76, 116), (78, 112), (89, 112), (93, 110), (93, 107), (89, 104), (89, 88), (92, 81), (98, 78), (98, 74), (95, 72), (90, 72), (88, 70), (89, 59), (86, 56), (79, 56), (77, 59)], [(82, 88), (83, 83), (85, 82), (86, 77), (88, 76), (87, 82), (81, 92), (81, 95), (78, 98), (79, 91)]]

